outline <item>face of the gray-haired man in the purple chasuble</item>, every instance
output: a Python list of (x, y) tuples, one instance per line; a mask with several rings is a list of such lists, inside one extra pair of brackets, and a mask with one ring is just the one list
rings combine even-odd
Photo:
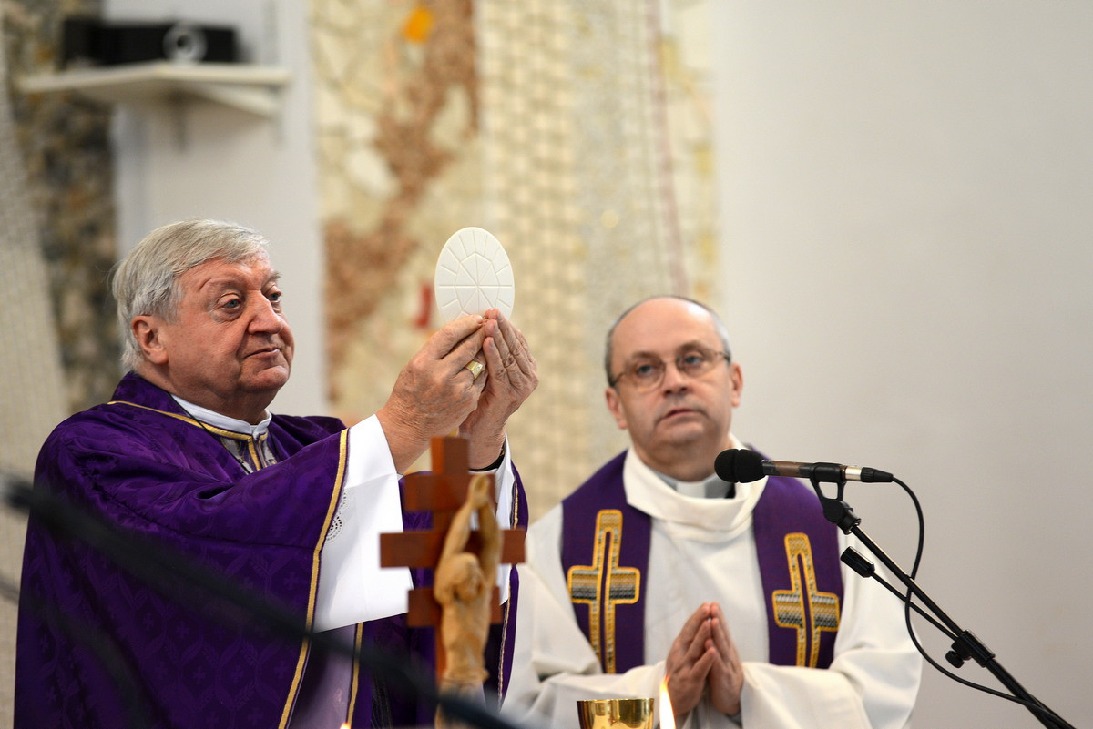
[(294, 342), (278, 274), (265, 255), (240, 263), (213, 259), (178, 283), (183, 298), (174, 321), (133, 320), (158, 378), (150, 379), (191, 403), (257, 422), (292, 367)]

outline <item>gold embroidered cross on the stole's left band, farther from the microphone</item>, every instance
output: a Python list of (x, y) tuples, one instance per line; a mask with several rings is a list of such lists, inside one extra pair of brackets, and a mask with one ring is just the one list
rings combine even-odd
[(596, 515), (592, 563), (574, 565), (566, 575), (571, 601), (588, 606), (588, 633), (593, 636), (592, 648), (607, 673), (615, 672), (614, 608), (637, 602), (642, 590), (642, 573), (619, 566), (621, 547), (622, 512), (606, 509)]

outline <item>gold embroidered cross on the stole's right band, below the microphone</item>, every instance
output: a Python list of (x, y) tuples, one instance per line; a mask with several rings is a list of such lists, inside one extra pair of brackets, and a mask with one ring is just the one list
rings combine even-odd
[(812, 545), (806, 534), (786, 535), (790, 589), (776, 589), (775, 622), (797, 630), (797, 665), (815, 668), (820, 659), (820, 633), (838, 630), (838, 596), (816, 587)]

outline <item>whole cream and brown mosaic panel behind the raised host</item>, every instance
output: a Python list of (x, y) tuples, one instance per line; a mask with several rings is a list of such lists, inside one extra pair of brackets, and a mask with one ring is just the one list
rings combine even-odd
[(440, 247), (478, 225), (508, 251), (540, 367), (509, 429), (532, 514), (623, 447), (608, 325), (643, 296), (705, 296), (715, 270), (703, 44), (675, 31), (704, 34), (705, 7), (313, 0), (338, 415), (383, 405), (438, 326)]

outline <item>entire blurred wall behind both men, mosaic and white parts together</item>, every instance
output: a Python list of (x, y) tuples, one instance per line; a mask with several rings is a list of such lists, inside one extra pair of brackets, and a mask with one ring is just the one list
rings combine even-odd
[[(72, 19), (190, 35), (119, 63)], [(703, 299), (743, 367), (737, 434), (905, 480), (919, 584), (1093, 724), (1086, 0), (4, 0), (0, 23), (4, 473), (109, 397), (106, 275), (152, 228), (262, 231), (297, 340), (273, 407), (354, 422), (439, 326), (436, 256), (475, 225), (540, 366), (509, 433), (533, 517), (625, 445), (610, 322)], [(184, 43), (213, 28), (234, 60)], [(909, 567), (907, 497), (846, 498)], [(23, 523), (0, 519), (17, 581)], [(0, 605), (5, 725), (14, 624)], [(1038, 724), (927, 667), (915, 726)]]

